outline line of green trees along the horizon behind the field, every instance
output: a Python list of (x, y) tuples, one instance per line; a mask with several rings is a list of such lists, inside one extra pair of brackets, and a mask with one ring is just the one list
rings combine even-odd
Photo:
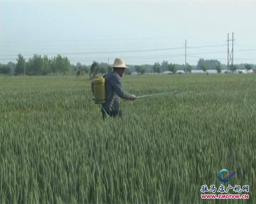
[[(105, 74), (112, 70), (108, 67), (107, 63), (93, 61), (91, 66), (82, 65), (78, 62), (76, 65), (70, 63), (67, 57), (57, 55), (56, 57), (48, 58), (46, 55), (41, 56), (34, 54), (25, 62), (24, 57), (21, 54), (17, 55), (17, 63), (9, 62), (8, 64), (0, 64), (0, 74), (5, 75), (49, 75), (49, 74), (89, 74), (90, 78), (94, 78), (97, 74)], [(192, 70), (203, 70), (206, 72), (209, 69), (215, 69), (218, 73), (222, 72), (222, 69), (227, 69), (225, 64), (221, 64), (218, 60), (204, 60), (200, 58), (196, 66), (185, 64), (173, 64), (168, 61), (162, 61), (161, 63), (155, 62), (154, 65), (128, 65), (130, 69), (126, 69), (126, 74), (132, 74), (137, 72), (138, 74), (144, 73), (161, 73), (170, 71), (175, 74), (179, 70), (187, 71), (191, 73)], [(233, 66), (233, 71), (237, 69), (256, 69), (256, 65), (253, 64), (239, 64)], [(230, 67), (231, 70), (231, 67)]]

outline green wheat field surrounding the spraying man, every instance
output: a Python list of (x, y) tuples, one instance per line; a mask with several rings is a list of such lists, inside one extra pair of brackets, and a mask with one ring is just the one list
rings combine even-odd
[[(256, 203), (256, 75), (122, 83), (181, 94), (122, 101), (124, 117), (103, 121), (88, 76), (0, 77), (0, 203)], [(236, 175), (223, 184), (221, 169)], [(249, 199), (201, 198), (221, 184)]]

